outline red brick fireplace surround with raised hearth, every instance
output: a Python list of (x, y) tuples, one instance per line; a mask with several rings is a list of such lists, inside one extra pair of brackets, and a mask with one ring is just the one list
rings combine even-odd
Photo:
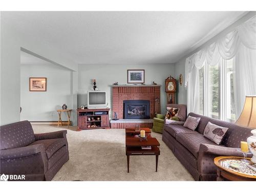
[[(124, 101), (149, 101), (149, 114), (151, 119), (124, 119)], [(152, 86), (112, 86), (112, 114), (118, 113), (120, 121), (111, 121), (112, 128), (126, 128), (140, 124), (141, 127), (152, 127), (152, 119), (160, 112), (160, 85)], [(123, 121), (122, 121), (123, 120)]]

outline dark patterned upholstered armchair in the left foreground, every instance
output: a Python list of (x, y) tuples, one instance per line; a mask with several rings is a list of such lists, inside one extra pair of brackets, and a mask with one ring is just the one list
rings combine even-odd
[(69, 160), (67, 131), (34, 134), (29, 121), (0, 127), (0, 173), (52, 180)]

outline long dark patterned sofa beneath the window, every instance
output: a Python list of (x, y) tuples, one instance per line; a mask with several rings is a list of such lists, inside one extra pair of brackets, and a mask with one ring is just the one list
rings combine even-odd
[[(173, 151), (195, 180), (211, 181), (217, 179), (217, 156), (243, 156), (238, 151), (240, 141), (251, 136), (250, 129), (233, 123), (189, 113), (192, 117), (201, 117), (198, 127), (192, 131), (183, 125), (164, 124), (162, 140)], [(203, 136), (206, 124), (211, 123), (228, 127), (220, 145)]]

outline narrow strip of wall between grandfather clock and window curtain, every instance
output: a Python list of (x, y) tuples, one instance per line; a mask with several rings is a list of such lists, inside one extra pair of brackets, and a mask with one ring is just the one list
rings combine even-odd
[[(177, 103), (179, 104), (187, 104), (187, 90), (184, 86), (185, 80), (185, 58), (181, 59), (179, 62), (175, 63), (175, 78), (177, 79)], [(183, 83), (180, 85), (179, 83), (179, 76), (182, 74), (183, 76)]]

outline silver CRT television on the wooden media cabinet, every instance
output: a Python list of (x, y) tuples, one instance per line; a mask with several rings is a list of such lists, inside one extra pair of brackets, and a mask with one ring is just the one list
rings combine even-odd
[(88, 109), (106, 108), (106, 92), (105, 91), (88, 91), (87, 93)]

